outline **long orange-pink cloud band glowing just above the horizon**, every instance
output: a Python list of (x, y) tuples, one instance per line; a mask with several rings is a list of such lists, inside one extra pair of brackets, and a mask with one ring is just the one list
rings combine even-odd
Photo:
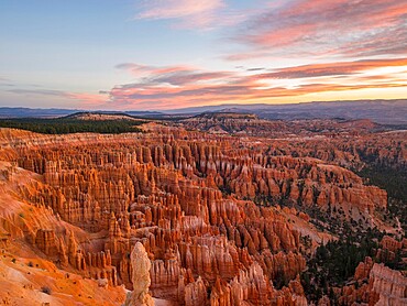
[[(116, 86), (110, 91), (110, 101), (127, 108), (163, 109), (293, 98), (319, 92), (407, 87), (406, 81), (400, 81), (395, 76), (365, 75), (376, 68), (398, 66), (407, 66), (407, 58), (314, 64), (270, 73), (256, 68), (250, 69), (250, 74), (154, 67), (150, 69), (150, 75), (143, 76), (138, 83)], [(158, 70), (163, 74), (157, 74)], [(323, 79), (317, 83), (316, 77)], [(274, 83), (274, 79), (287, 79), (288, 83), (282, 86)], [(293, 79), (301, 81), (290, 86), (289, 81)]]

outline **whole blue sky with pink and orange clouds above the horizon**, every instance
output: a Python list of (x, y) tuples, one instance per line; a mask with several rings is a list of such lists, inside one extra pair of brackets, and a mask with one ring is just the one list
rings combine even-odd
[(0, 107), (397, 98), (406, 0), (0, 0)]

